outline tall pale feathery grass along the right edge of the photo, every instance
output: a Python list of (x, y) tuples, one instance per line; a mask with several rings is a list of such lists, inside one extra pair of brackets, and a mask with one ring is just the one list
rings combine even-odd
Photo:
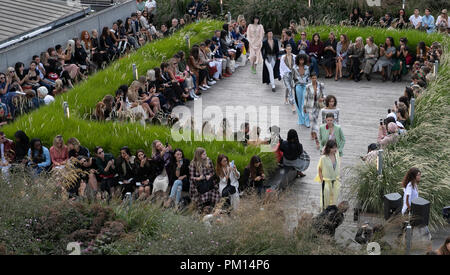
[(382, 176), (377, 177), (374, 164), (355, 168), (352, 188), (363, 209), (381, 211), (382, 196), (392, 192), (402, 194), (401, 181), (404, 175), (411, 167), (417, 167), (422, 172), (419, 196), (431, 202), (431, 226), (436, 228), (446, 223), (442, 217), (442, 208), (450, 202), (450, 114), (442, 110), (447, 110), (450, 104), (449, 49), (446, 39), (438, 77), (429, 83), (424, 94), (416, 101), (413, 128), (384, 150)]

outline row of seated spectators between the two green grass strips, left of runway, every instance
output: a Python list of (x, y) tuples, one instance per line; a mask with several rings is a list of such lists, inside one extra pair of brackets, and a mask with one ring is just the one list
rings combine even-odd
[(201, 91), (235, 72), (242, 64), (236, 63), (237, 59), (242, 56), (241, 60), (246, 60), (237, 43), (228, 41), (233, 31), (230, 26), (225, 24), (223, 30), (214, 32), (212, 39), (193, 45), (188, 57), (179, 51), (130, 86), (121, 85), (114, 95), (106, 95), (97, 103), (94, 118), (131, 118), (145, 123), (158, 113), (168, 114), (175, 106), (197, 100)]

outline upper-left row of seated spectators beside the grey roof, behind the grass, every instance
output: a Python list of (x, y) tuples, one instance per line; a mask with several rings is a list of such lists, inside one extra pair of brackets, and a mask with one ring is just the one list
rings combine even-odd
[(185, 25), (174, 18), (170, 30), (165, 24), (157, 30), (145, 15), (133, 12), (125, 21), (119, 19), (111, 27), (105, 26), (100, 34), (97, 30), (82, 31), (66, 45), (50, 47), (34, 55), (30, 63), (17, 62), (5, 73), (0, 72), (0, 126), (38, 108), (38, 101), (53, 102), (54, 96), (72, 89), (114, 59)]

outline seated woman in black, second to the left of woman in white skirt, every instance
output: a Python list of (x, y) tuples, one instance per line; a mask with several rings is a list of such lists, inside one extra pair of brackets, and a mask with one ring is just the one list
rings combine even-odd
[(124, 146), (120, 149), (120, 156), (116, 160), (116, 171), (119, 175), (118, 181), (122, 188), (122, 198), (136, 189), (136, 157), (131, 155), (130, 149)]

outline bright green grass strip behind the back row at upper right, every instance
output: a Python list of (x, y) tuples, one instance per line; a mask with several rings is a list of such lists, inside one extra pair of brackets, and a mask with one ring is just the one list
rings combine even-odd
[[(438, 41), (442, 42), (444, 40), (444, 36), (442, 34), (433, 33), (428, 34), (426, 32), (417, 31), (417, 30), (388, 30), (377, 27), (349, 27), (349, 26), (307, 26), (304, 28), (306, 31), (308, 40), (312, 40), (312, 35), (314, 33), (319, 33), (320, 39), (322, 41), (326, 41), (328, 39), (328, 35), (330, 32), (334, 32), (337, 39), (339, 40), (339, 35), (346, 34), (349, 40), (353, 42), (356, 40), (358, 36), (361, 36), (365, 39), (369, 36), (373, 36), (374, 43), (376, 45), (384, 44), (386, 41), (386, 37), (392, 36), (394, 38), (395, 45), (399, 45), (399, 40), (401, 37), (406, 37), (408, 39), (408, 47), (410, 51), (415, 54), (417, 44), (420, 41), (425, 42), (426, 45), (431, 46), (431, 43)], [(300, 34), (296, 35), (296, 41), (300, 39)]]

